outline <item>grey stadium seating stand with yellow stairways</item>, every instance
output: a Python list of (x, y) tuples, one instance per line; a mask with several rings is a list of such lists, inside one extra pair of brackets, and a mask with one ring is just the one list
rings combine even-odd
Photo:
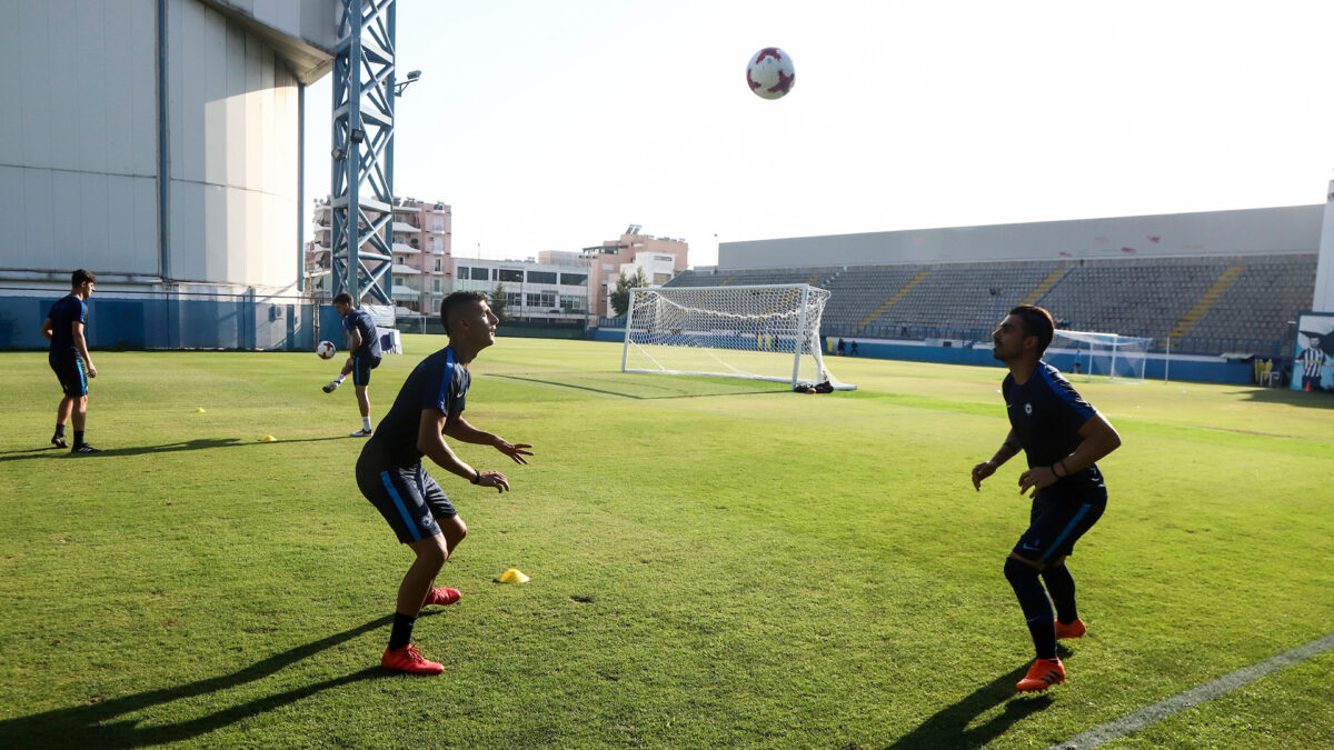
[(1017, 304), (1153, 350), (1279, 355), (1310, 310), (1314, 252), (1213, 258), (938, 263), (686, 271), (672, 287), (800, 284), (832, 292), (822, 334), (983, 340)]

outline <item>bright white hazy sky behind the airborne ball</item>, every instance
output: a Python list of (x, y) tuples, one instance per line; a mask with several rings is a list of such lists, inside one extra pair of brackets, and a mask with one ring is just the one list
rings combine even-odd
[[(1334, 1), (399, 0), (395, 191), (454, 254), (1323, 203)], [(762, 47), (796, 84), (746, 87)], [(329, 76), (307, 91), (329, 190)], [(716, 239), (715, 239), (716, 238)]]

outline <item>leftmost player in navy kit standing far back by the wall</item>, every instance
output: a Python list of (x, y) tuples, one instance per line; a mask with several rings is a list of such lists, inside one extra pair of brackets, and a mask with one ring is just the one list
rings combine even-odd
[(60, 390), (65, 392), (56, 407), (56, 434), (51, 436), (51, 444), (57, 448), (68, 447), (65, 443), (65, 422), (73, 418), (75, 444), (69, 448), (72, 454), (97, 454), (97, 448), (84, 442), (84, 423), (88, 418), (88, 378), (97, 376), (97, 368), (92, 366), (92, 355), (88, 354), (88, 339), (84, 338), (84, 326), (88, 322), (88, 298), (92, 296), (97, 286), (97, 278), (83, 268), (69, 275), (69, 294), (51, 306), (47, 320), (41, 324), (41, 335), (51, 339), (51, 352), (47, 362), (60, 380)]

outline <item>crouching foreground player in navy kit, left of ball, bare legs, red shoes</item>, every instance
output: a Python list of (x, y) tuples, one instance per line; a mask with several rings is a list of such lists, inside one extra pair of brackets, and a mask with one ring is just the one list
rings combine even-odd
[(450, 346), (422, 360), (408, 375), (394, 406), (366, 442), (356, 462), (356, 484), (398, 535), (412, 547), (416, 560), (399, 586), (390, 646), (380, 666), (410, 674), (440, 674), (444, 666), (427, 661), (412, 647), (412, 626), (426, 605), (452, 605), (455, 589), (434, 589), (435, 577), (467, 535), (450, 498), (422, 467), (427, 456), (436, 466), (498, 492), (510, 488), (499, 471), (479, 471), (464, 463), (444, 442), (448, 435), (463, 443), (491, 446), (528, 463), (526, 443), (508, 443), (483, 432), (463, 419), (472, 376), (468, 363), (495, 343), (499, 319), (482, 292), (454, 292), (440, 302), (440, 320)]

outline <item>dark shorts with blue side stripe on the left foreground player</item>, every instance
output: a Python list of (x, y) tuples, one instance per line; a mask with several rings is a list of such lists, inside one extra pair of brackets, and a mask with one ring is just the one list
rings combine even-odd
[(436, 519), (459, 515), (420, 463), (407, 468), (384, 466), (362, 454), (362, 460), (356, 462), (356, 486), (404, 544), (435, 536), (440, 532)]

